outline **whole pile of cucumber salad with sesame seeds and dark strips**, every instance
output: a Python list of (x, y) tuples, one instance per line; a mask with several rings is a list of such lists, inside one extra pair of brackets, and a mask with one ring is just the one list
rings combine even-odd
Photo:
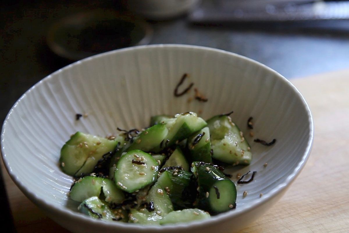
[(252, 153), (229, 115), (153, 116), (149, 128), (108, 138), (76, 132), (60, 153), (62, 171), (76, 179), (70, 198), (92, 218), (146, 225), (234, 209), (236, 186), (221, 166), (249, 165)]

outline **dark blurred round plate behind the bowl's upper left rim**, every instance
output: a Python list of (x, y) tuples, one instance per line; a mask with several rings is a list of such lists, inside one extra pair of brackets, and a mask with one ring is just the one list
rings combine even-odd
[(57, 55), (80, 60), (92, 55), (150, 42), (153, 30), (132, 15), (93, 10), (67, 16), (54, 23), (47, 44)]

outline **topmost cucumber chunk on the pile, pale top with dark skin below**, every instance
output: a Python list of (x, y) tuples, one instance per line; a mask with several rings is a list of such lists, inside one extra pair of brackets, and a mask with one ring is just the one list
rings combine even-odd
[(192, 133), (201, 130), (207, 125), (206, 121), (198, 117), (194, 112), (176, 114), (174, 117), (167, 121), (166, 127), (169, 129), (169, 132), (164, 139), (164, 143), (154, 149), (155, 152), (186, 139)]

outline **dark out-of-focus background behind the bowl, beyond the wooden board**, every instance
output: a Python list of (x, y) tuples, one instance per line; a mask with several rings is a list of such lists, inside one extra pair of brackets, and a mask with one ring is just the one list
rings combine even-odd
[(5, 0), (0, 17), (1, 122), (50, 73), (132, 45), (223, 49), (288, 79), (349, 67), (347, 1)]

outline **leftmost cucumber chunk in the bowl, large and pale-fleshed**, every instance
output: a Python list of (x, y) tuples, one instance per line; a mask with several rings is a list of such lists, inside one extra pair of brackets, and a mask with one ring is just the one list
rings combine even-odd
[(76, 132), (61, 149), (59, 162), (62, 171), (71, 176), (89, 174), (98, 160), (113, 151), (117, 144), (115, 140)]

